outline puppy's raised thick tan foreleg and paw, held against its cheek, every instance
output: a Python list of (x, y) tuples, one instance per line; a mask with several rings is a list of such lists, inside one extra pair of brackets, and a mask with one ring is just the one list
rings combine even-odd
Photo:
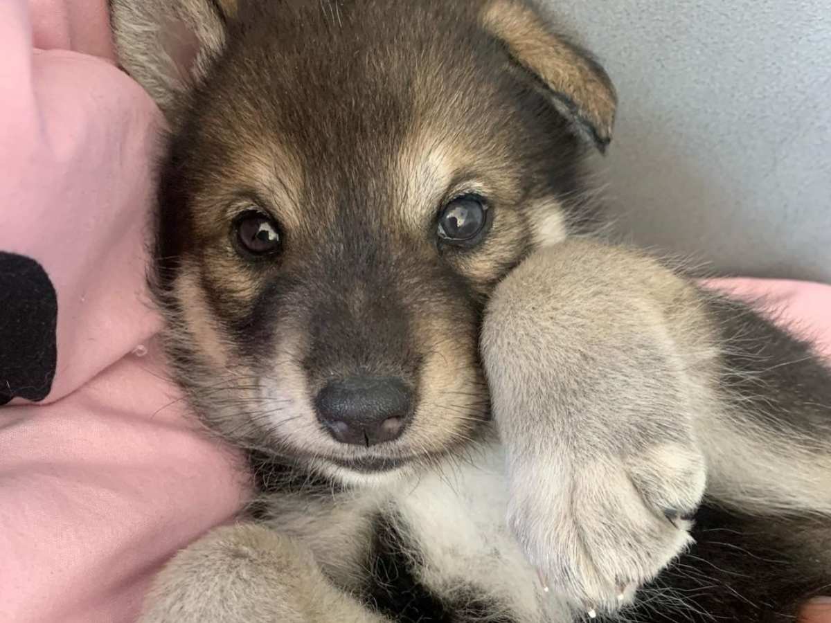
[[(651, 258), (589, 241), (535, 253), (489, 304), (482, 350), (509, 524), (549, 585), (591, 614), (625, 606), (689, 547), (708, 478), (738, 495), (747, 477), (716, 459), (743, 438), (735, 425), (724, 437), (735, 405), (708, 305)], [(796, 454), (765, 449), (773, 437), (753, 436), (757, 452), (798, 473)]]

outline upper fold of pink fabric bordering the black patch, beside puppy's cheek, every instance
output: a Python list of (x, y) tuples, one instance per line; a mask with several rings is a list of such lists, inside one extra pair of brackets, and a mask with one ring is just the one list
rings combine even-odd
[[(145, 300), (155, 105), (109, 61), (32, 49), (32, 38), (71, 42), (80, 20), (56, 16), (96, 4), (104, 11), (104, 0), (36, 2), (34, 37), (26, 2), (0, 6), (0, 118), (12, 120), (0, 125), (0, 170), (14, 182), (0, 188), (2, 250), (37, 259), (57, 290), (57, 375), (47, 402), (159, 328), (150, 305), (136, 305)], [(37, 17), (51, 28), (37, 28)]]

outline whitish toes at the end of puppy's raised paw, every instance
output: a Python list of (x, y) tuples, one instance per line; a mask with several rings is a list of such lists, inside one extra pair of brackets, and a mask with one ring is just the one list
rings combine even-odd
[(547, 590), (589, 616), (617, 611), (691, 544), (703, 459), (682, 444), (556, 456), (512, 461), (509, 527)]

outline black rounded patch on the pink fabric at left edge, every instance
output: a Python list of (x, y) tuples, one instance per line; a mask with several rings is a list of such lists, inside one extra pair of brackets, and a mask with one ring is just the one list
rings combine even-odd
[(0, 405), (43, 400), (57, 365), (57, 293), (32, 258), (0, 252)]

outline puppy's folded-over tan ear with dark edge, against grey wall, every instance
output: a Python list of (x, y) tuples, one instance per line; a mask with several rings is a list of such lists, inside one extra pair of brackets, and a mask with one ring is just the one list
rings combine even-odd
[(481, 19), (514, 62), (546, 88), (558, 110), (605, 151), (612, 140), (617, 95), (597, 61), (555, 35), (524, 0), (489, 0)]

